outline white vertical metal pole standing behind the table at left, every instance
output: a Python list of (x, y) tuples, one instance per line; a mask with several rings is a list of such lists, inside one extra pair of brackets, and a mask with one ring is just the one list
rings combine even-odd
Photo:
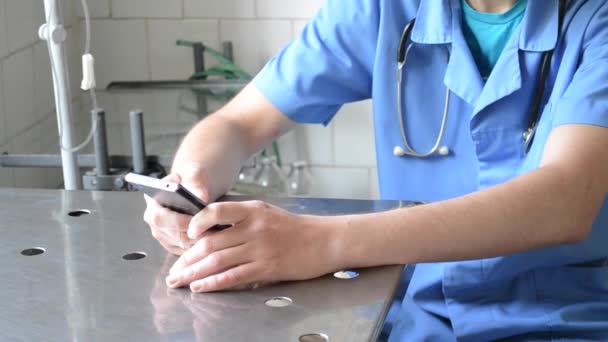
[[(72, 147), (72, 94), (70, 92), (68, 67), (65, 58), (66, 33), (63, 28), (63, 9), (59, 0), (44, 0), (46, 18), (46, 32), (50, 32), (51, 39), (47, 41), (51, 48), (51, 66), (54, 70), (53, 80), (55, 88), (55, 108), (61, 130), (61, 145)], [(44, 30), (41, 30), (44, 32)], [(63, 183), (66, 190), (82, 188), (75, 152), (61, 149), (61, 162), (63, 166)]]

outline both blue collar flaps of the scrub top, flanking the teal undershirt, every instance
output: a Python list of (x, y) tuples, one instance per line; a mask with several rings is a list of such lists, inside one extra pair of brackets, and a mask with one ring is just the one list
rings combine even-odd
[[(420, 44), (452, 43), (454, 15), (460, 20), (460, 0), (423, 0), (418, 7), (411, 40)], [(558, 36), (558, 0), (528, 1), (521, 23), (519, 48), (525, 51), (548, 51), (555, 48)], [(453, 15), (454, 13), (454, 15)]]

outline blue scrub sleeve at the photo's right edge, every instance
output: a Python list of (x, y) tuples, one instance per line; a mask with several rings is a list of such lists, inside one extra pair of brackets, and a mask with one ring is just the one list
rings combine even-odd
[(579, 67), (556, 103), (553, 127), (608, 127), (608, 4), (602, 5), (589, 22), (583, 44)]

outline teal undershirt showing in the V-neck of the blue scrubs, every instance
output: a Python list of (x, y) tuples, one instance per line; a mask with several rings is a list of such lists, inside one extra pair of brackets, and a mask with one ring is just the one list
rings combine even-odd
[(504, 13), (484, 13), (462, 3), (462, 30), (482, 77), (488, 77), (513, 32), (524, 18), (528, 0), (518, 0)]

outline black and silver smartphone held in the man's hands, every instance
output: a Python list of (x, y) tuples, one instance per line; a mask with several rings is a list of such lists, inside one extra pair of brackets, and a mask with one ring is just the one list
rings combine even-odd
[[(158, 178), (129, 173), (125, 180), (136, 189), (155, 199), (161, 206), (180, 214), (194, 216), (203, 210), (207, 203), (196, 197), (181, 184)], [(213, 230), (222, 230), (232, 225), (216, 225)]]

